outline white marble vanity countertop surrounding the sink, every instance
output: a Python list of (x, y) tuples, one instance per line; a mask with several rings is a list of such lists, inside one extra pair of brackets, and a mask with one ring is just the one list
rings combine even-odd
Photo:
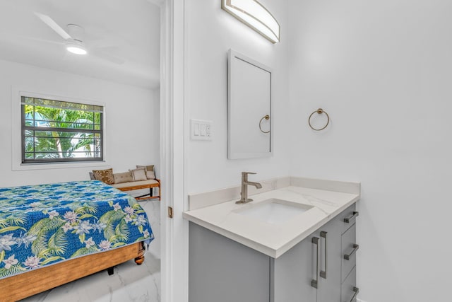
[[(323, 190), (322, 187), (328, 190)], [(359, 191), (360, 185), (356, 182), (290, 178), (287, 187), (277, 187), (275, 190), (252, 195), (253, 202), (236, 204), (237, 199), (233, 199), (208, 207), (194, 207), (195, 209), (184, 212), (184, 218), (270, 257), (278, 258), (341, 211), (357, 202), (360, 196)], [(215, 196), (213, 192), (208, 194), (209, 198)], [(222, 194), (224, 195), (224, 192)], [(261, 219), (237, 213), (244, 207), (255, 207), (256, 204), (270, 198), (312, 207), (278, 224), (267, 223)]]

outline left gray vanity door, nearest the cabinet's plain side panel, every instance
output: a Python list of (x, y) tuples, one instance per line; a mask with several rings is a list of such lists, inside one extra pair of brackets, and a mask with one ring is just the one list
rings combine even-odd
[(314, 237), (319, 238), (319, 234), (312, 234), (278, 259), (272, 259), (271, 302), (316, 302), (317, 290), (311, 286), (311, 281), (317, 279)]

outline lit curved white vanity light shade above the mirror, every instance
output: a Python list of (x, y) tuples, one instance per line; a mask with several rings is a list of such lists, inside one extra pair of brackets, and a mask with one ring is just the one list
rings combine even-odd
[(239, 19), (270, 42), (280, 41), (280, 24), (256, 0), (221, 0), (221, 8)]

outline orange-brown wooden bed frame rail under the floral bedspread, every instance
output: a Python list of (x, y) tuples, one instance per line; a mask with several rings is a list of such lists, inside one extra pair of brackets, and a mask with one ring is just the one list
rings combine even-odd
[(18, 301), (131, 259), (141, 265), (144, 251), (144, 243), (139, 242), (1, 279), (1, 301)]

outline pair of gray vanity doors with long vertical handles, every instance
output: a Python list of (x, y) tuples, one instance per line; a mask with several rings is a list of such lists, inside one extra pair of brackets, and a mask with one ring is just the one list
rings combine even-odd
[(340, 220), (336, 218), (278, 259), (271, 258), (274, 285), (270, 301), (339, 302), (340, 235)]

